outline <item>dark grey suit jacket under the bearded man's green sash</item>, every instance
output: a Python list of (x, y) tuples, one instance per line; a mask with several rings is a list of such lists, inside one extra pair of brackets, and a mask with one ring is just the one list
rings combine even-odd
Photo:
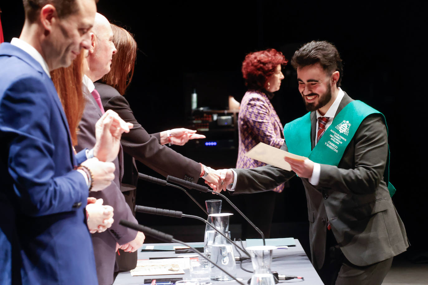
[[(352, 99), (345, 93), (337, 113)], [(337, 115), (336, 113), (336, 115)], [(315, 146), (316, 113), (311, 113), (311, 140)], [(281, 147), (288, 150), (287, 142)], [(306, 190), (312, 263), (324, 263), (327, 220), (345, 257), (365, 266), (389, 259), (409, 246), (404, 225), (392, 204), (383, 172), (388, 153), (386, 126), (380, 115), (360, 124), (339, 165), (322, 165), (317, 186), (302, 178)], [(267, 191), (294, 172), (267, 165), (236, 169), (235, 193)]]

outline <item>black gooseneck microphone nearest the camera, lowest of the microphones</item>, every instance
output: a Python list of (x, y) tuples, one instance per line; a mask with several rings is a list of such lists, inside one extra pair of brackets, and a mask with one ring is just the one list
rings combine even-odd
[(168, 235), (164, 232), (159, 232), (155, 229), (149, 228), (147, 226), (142, 226), (139, 225), (137, 223), (131, 223), (130, 221), (127, 220), (120, 220), (119, 221), (119, 225), (122, 226), (126, 226), (127, 228), (130, 229), (134, 229), (136, 231), (139, 232), (144, 232), (144, 234), (146, 235), (150, 235), (154, 238), (158, 238), (161, 241), (166, 241), (166, 242), (176, 242), (178, 244), (182, 244), (186, 247), (189, 247), (191, 250), (193, 250), (194, 253), (196, 253), (197, 255), (201, 256), (202, 258), (208, 260), (208, 262), (210, 262), (211, 264), (213, 264), (215, 267), (217, 267), (218, 269), (220, 269), (221, 271), (223, 271), (223, 273), (225, 273), (227, 276), (230, 276), (232, 279), (234, 279), (236, 282), (238, 282), (241, 285), (244, 285), (244, 283), (242, 283), (241, 281), (239, 281), (238, 279), (236, 279), (236, 277), (232, 276), (230, 273), (228, 273), (226, 270), (224, 270), (223, 268), (221, 268), (220, 266), (218, 266), (217, 264), (215, 264), (213, 261), (211, 261), (211, 259), (208, 259), (207, 257), (203, 256), (202, 253), (200, 253), (198, 250), (196, 250), (195, 248), (191, 247), (190, 245), (182, 242), (182, 241), (178, 241), (175, 238), (172, 237), (172, 235)]

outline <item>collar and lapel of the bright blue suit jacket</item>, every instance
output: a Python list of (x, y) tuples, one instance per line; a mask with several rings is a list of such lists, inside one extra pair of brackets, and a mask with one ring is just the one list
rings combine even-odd
[(42, 76), (43, 82), (46, 83), (46, 88), (48, 89), (48, 96), (51, 96), (51, 99), (53, 102), (55, 102), (56, 107), (58, 108), (59, 114), (62, 119), (62, 123), (65, 126), (65, 130), (68, 135), (68, 150), (70, 151), (70, 160), (72, 165), (76, 165), (76, 158), (74, 156), (73, 152), (73, 144), (71, 143), (71, 135), (70, 135), (70, 129), (68, 127), (68, 121), (65, 117), (64, 109), (62, 108), (62, 104), (59, 101), (58, 93), (56, 92), (55, 85), (53, 85), (52, 79), (49, 78), (48, 74), (45, 73), (45, 71), (42, 68), (42, 65), (40, 65), (39, 62), (36, 61), (32, 56), (30, 56), (28, 53), (26, 53), (24, 50), (21, 50), (19, 47), (14, 46), (13, 44), (9, 43), (2, 43), (1, 49), (0, 49), (0, 56), (6, 55), (6, 56), (16, 56), (22, 61), (26, 62), (30, 67), (32, 67), (34, 70), (40, 73)]

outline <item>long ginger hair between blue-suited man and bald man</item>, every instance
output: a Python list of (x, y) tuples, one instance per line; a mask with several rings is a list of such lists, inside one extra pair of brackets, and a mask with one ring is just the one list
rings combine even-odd
[(82, 51), (69, 67), (51, 71), (53, 85), (67, 117), (73, 145), (77, 145), (77, 129), (85, 109), (82, 92), (83, 59)]

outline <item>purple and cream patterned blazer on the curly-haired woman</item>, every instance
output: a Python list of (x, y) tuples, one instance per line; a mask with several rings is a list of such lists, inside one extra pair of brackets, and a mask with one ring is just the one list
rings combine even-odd
[[(245, 156), (259, 142), (280, 148), (284, 144), (281, 121), (268, 96), (261, 91), (249, 90), (241, 101), (238, 116), (239, 149), (236, 168), (254, 168), (266, 165)], [(273, 191), (282, 192), (284, 184)]]

